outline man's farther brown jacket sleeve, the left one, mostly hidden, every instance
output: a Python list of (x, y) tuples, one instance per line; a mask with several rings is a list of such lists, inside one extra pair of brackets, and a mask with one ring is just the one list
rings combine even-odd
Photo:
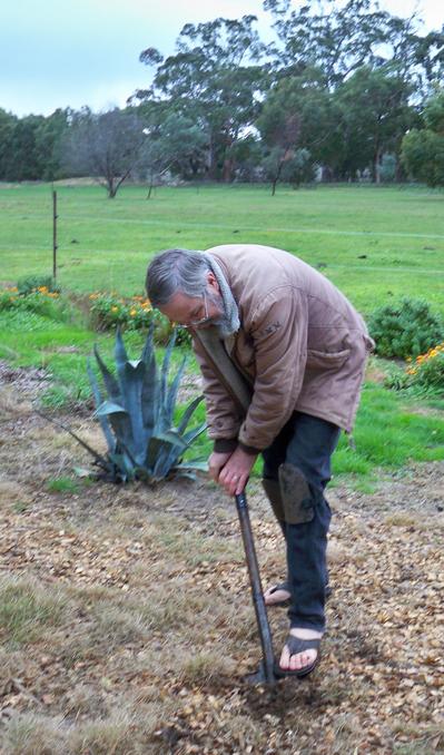
[[(197, 341), (193, 340), (193, 347), (204, 381), (204, 396), (207, 410), (208, 437), (211, 440), (237, 439), (243, 418), (231, 396), (225, 390), (223, 383), (205, 361), (205, 352)], [(237, 443), (234, 443), (235, 447)], [(220, 445), (220, 450), (223, 447)]]

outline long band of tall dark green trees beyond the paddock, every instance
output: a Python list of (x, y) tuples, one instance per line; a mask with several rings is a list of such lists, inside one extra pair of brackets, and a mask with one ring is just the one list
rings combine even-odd
[(444, 27), (423, 33), (416, 13), (399, 18), (376, 0), (264, 9), (267, 43), (256, 17), (243, 16), (185, 24), (167, 57), (147, 47), (139, 58), (151, 79), (121, 110), (0, 109), (0, 180), (87, 173), (110, 197), (129, 176), (268, 179), (275, 189), (315, 169), (374, 182), (404, 169), (443, 183)]

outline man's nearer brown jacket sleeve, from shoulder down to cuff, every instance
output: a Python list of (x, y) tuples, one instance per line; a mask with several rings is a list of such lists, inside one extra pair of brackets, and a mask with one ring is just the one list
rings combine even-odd
[(248, 325), (255, 351), (254, 394), (239, 431), (241, 445), (264, 450), (289, 420), (307, 362), (308, 302), (283, 286), (266, 296)]

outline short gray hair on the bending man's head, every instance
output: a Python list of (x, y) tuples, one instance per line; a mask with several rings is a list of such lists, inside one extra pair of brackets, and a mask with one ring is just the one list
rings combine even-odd
[(177, 292), (203, 296), (209, 264), (201, 252), (166, 249), (148, 265), (146, 288), (152, 306), (167, 304)]

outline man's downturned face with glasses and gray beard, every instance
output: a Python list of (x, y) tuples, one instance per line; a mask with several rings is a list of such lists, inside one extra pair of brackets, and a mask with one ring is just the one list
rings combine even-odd
[(177, 292), (159, 310), (171, 322), (185, 327), (208, 327), (224, 314), (219, 286), (213, 274), (208, 274), (208, 284), (204, 296), (187, 296)]

